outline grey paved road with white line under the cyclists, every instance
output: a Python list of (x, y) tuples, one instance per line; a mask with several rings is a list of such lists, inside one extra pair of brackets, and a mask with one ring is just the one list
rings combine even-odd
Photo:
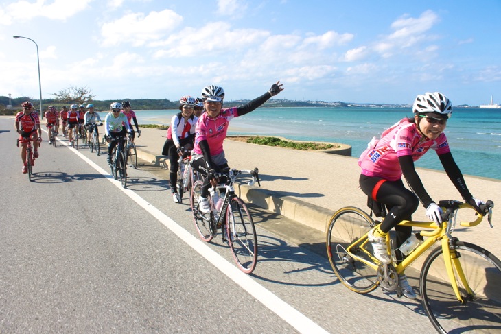
[(104, 156), (44, 142), (29, 182), (13, 128), (0, 119), (0, 333), (434, 333), (419, 302), (349, 291), (322, 246), (292, 241), (314, 230), (257, 208), (242, 274), (196, 237), (165, 171), (128, 169), (123, 191)]

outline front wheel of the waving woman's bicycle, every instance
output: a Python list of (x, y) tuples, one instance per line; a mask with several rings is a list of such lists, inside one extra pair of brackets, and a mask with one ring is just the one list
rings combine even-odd
[(242, 272), (250, 274), (257, 263), (257, 235), (253, 218), (240, 198), (231, 198), (226, 211), (227, 239)]

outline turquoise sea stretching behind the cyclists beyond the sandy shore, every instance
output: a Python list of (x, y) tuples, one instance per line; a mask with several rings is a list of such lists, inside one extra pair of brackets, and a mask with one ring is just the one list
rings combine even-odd
[[(136, 115), (140, 124), (168, 124), (177, 112), (144, 110)], [(358, 157), (373, 136), (410, 116), (410, 108), (258, 108), (233, 119), (229, 134), (345, 143)], [(501, 109), (455, 108), (445, 133), (463, 174), (501, 180)], [(426, 154), (416, 165), (442, 170), (436, 154)]]

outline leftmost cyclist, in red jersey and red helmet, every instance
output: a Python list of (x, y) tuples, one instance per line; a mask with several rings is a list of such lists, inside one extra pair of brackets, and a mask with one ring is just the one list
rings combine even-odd
[[(33, 104), (25, 101), (21, 104), (23, 111), (16, 114), (14, 126), (16, 132), (20, 134), (21, 142), (21, 160), (23, 160), (23, 173), (26, 169), (26, 145), (28, 141), (33, 141), (33, 156), (38, 158), (38, 143), (42, 141), (42, 129), (40, 128), (40, 119), (36, 112), (32, 112)], [(38, 134), (38, 135), (37, 135)]]

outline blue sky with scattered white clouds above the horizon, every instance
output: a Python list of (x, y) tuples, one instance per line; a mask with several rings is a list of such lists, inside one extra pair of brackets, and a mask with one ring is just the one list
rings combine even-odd
[(501, 103), (501, 0), (0, 0), (0, 95)]

